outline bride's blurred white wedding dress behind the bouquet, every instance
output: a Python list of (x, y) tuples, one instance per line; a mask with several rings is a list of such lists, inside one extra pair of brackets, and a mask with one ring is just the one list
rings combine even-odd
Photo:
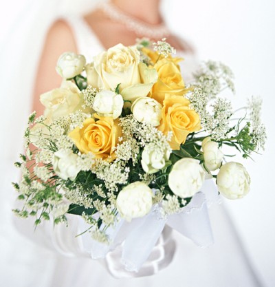
[[(67, 18), (78, 45), (78, 52), (91, 61), (92, 56), (102, 51), (103, 47), (82, 17)], [(190, 76), (196, 66), (194, 56), (183, 55), (185, 61), (182, 70), (185, 78)], [(7, 160), (10, 164), (10, 159)], [(7, 177), (5, 188), (9, 187)], [(7, 205), (7, 209), (10, 205)], [(5, 210), (4, 210), (5, 211)], [(223, 204), (213, 204), (209, 210), (210, 222), (214, 234), (214, 244), (208, 248), (199, 248), (183, 235), (173, 231), (176, 251), (173, 262), (159, 273), (150, 277), (114, 279), (104, 264), (92, 260), (83, 253), (81, 241), (74, 238), (78, 228), (78, 218), (69, 216), (69, 227), (53, 228), (44, 224), (33, 231), (29, 220), (16, 219), (17, 229), (30, 241), (25, 240), (6, 225), (7, 238), (13, 245), (8, 245), (5, 237), (1, 242), (6, 250), (1, 271), (7, 270), (0, 277), (0, 286), (13, 287), (128, 287), (128, 286), (186, 286), (186, 287), (260, 287), (250, 261), (241, 245), (234, 226)], [(2, 232), (3, 233), (3, 232)], [(4, 233), (3, 233), (4, 234)], [(35, 243), (35, 244), (34, 244)], [(13, 246), (12, 248), (10, 246)], [(12, 255), (9, 257), (9, 255)], [(2, 259), (3, 259), (2, 258)], [(7, 268), (10, 266), (10, 269)], [(15, 271), (14, 271), (15, 270)], [(1, 272), (0, 271), (0, 272)]]

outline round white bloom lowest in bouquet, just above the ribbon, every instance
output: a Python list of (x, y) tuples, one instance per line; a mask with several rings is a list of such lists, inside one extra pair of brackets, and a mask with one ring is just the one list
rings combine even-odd
[(146, 215), (153, 204), (153, 192), (144, 182), (133, 182), (118, 193), (116, 206), (127, 221)]

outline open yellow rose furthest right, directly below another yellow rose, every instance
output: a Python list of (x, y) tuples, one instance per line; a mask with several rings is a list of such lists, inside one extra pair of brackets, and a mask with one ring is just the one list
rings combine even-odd
[(162, 121), (158, 129), (164, 134), (168, 131), (173, 132), (173, 138), (170, 141), (172, 149), (179, 149), (184, 144), (188, 134), (193, 131), (199, 131), (201, 124), (199, 115), (194, 109), (190, 109), (190, 102), (183, 96), (171, 96), (166, 94), (162, 108)]

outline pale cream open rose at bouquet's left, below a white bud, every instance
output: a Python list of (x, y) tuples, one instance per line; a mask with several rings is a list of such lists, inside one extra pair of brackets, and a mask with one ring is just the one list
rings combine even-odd
[(42, 105), (45, 106), (44, 115), (49, 121), (54, 121), (61, 116), (83, 110), (83, 95), (78, 87), (71, 81), (64, 81), (60, 88), (40, 96)]

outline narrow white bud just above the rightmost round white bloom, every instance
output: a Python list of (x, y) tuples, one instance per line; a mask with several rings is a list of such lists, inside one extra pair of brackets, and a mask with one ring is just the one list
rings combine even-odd
[(219, 167), (221, 167), (221, 162), (223, 161), (223, 153), (219, 149), (219, 144), (217, 142), (212, 142), (211, 138), (207, 137), (203, 140), (201, 147), (206, 169), (209, 171), (219, 169)]

